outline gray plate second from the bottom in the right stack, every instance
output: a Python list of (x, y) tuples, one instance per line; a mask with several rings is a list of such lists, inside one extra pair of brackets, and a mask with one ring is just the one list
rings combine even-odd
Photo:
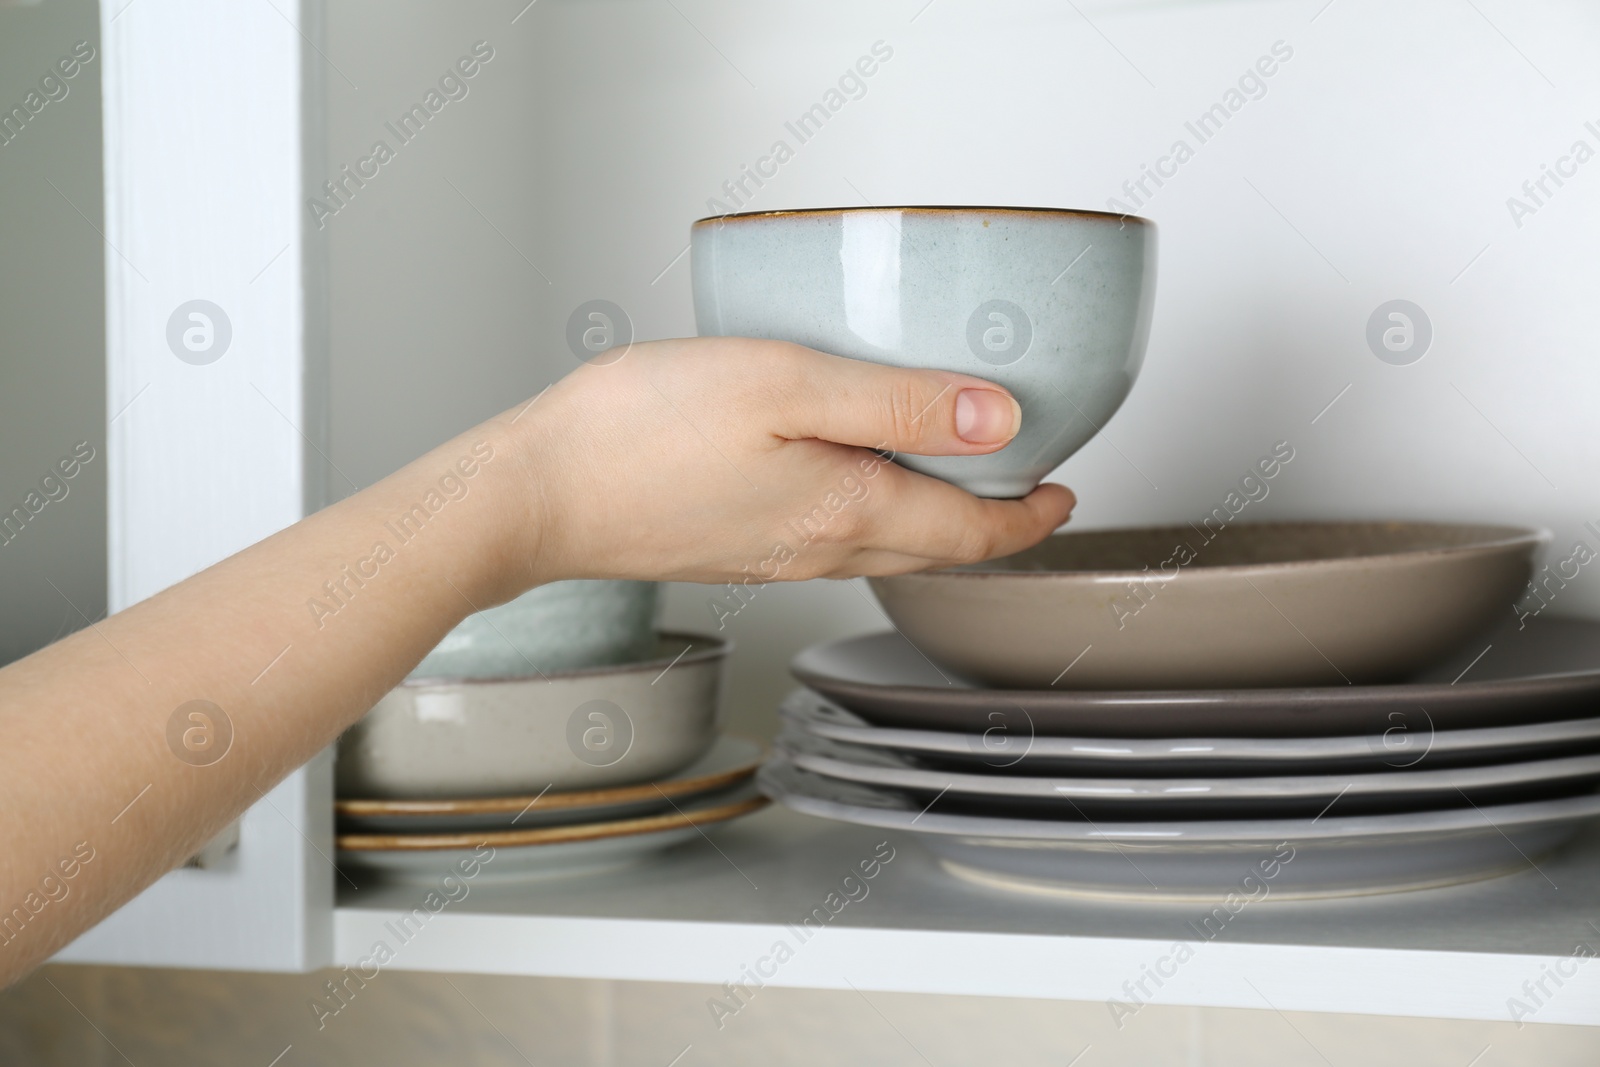
[[(1528, 763), (1374, 771), (1362, 774), (1298, 774), (1274, 777), (1034, 777), (1027, 774), (963, 774), (917, 766), (904, 757), (787, 731), (778, 749), (795, 766), (862, 785), (902, 789), (952, 805), (997, 805), (1040, 816), (1152, 817), (1280, 817), (1286, 814), (1390, 813), (1467, 803), (1534, 800), (1571, 795), (1600, 782), (1600, 755)], [(950, 803), (946, 803), (950, 801)]]

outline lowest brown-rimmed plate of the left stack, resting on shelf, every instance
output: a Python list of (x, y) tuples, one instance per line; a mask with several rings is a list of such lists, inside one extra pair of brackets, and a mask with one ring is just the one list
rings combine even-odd
[(477, 883), (582, 875), (638, 862), (763, 806), (766, 798), (746, 785), (640, 819), (482, 833), (342, 833), (339, 867), (427, 885), (446, 875)]

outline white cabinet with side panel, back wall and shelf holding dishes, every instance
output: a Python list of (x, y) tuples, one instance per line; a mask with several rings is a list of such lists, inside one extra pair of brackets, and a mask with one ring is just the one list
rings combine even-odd
[[(582, 301), (621, 304), (638, 336), (693, 331), (688, 222), (734, 206), (728, 184), (880, 40), (893, 59), (738, 206), (1138, 195), (1162, 226), (1150, 352), (1062, 472), (1075, 522), (1203, 514), (1290, 440), (1301, 459), (1264, 518), (1494, 517), (1565, 549), (1600, 517), (1600, 170), (1533, 216), (1507, 198), (1574, 139), (1600, 146), (1584, 126), (1600, 27), (1570, 6), (1482, 8), (107, 3), (112, 606), (342, 494), (334, 464), (368, 483), (531, 395), (571, 366)], [(475, 42), (494, 59), (470, 93), (318, 226), (307, 197)], [(1275, 74), (1243, 83), (1266, 54)], [(1219, 102), (1226, 123), (1190, 133)], [(1182, 165), (1147, 179), (1178, 141)], [(1434, 328), (1408, 366), (1365, 341), (1395, 298)], [(168, 344), (197, 299), (226, 314), (227, 358)], [(1600, 613), (1592, 581), (1562, 597)], [(669, 603), (674, 624), (709, 624), (704, 590)], [(797, 645), (875, 625), (856, 590), (774, 590), (734, 624), (736, 721), (766, 721)], [(296, 773), (221, 869), (174, 872), (62, 958), (357, 963), (413, 901), (334, 901), (328, 800), (325, 763)], [(483, 886), (394, 966), (736, 981), (862, 845), (770, 813), (728, 830), (726, 859), (693, 846), (586, 886)], [(898, 846), (870, 907), (773, 981), (1099, 1000), (1182, 920), (986, 896)], [(1558, 894), (1517, 877), (1267, 905), (1160, 1000), (1504, 1019), (1547, 961), (1600, 941), (1595, 841), (1546, 870)], [(1597, 984), (1568, 979), (1541, 1021), (1600, 1022)]]

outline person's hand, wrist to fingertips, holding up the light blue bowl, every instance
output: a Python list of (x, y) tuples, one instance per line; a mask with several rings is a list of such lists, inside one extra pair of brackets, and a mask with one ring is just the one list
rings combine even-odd
[(613, 350), (496, 422), (533, 491), (518, 585), (894, 574), (1018, 552), (1074, 506), (1059, 485), (987, 501), (882, 458), (998, 451), (1021, 424), (1003, 389), (776, 341)]

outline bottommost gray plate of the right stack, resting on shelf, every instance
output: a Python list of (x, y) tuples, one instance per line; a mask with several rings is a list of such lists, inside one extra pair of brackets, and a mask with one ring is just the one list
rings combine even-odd
[(1600, 816), (1600, 795), (1387, 816), (1203, 822), (926, 811), (898, 790), (779, 758), (757, 776), (806, 814), (917, 833), (952, 873), (1011, 889), (1136, 899), (1352, 896), (1525, 870)]

